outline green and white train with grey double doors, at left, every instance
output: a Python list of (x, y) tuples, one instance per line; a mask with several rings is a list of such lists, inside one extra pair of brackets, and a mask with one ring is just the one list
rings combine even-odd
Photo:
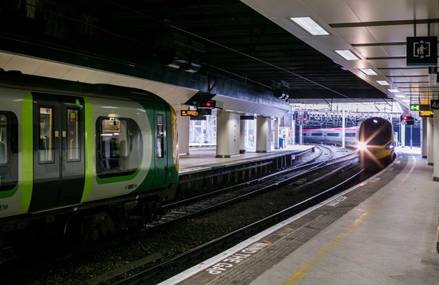
[(0, 250), (32, 227), (61, 225), (72, 243), (141, 227), (177, 184), (160, 97), (0, 69)]

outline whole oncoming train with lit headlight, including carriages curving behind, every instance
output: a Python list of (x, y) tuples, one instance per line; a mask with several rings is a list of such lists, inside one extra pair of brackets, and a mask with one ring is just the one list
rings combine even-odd
[[(393, 136), (392, 123), (379, 117), (366, 119), (359, 127), (345, 128), (345, 143), (356, 147), (361, 163), (379, 168), (387, 166), (394, 158)], [(341, 145), (342, 128), (304, 129), (303, 141)]]

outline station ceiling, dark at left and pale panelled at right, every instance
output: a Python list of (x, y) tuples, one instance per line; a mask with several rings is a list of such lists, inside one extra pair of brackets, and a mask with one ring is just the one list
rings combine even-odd
[[(311, 16), (329, 35), (311, 36), (293, 16)], [(438, 97), (428, 66), (405, 62), (406, 37), (437, 36), (438, 18), (437, 0), (3, 0), (0, 50), (149, 66), (186, 82), (219, 74), (255, 90), (283, 82), (285, 103), (407, 105)], [(344, 60), (336, 49), (359, 59)]]

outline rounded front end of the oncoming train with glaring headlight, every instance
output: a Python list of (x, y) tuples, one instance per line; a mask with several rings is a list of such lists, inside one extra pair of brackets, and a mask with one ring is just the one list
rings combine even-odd
[(390, 164), (395, 151), (392, 123), (379, 117), (363, 121), (358, 129), (357, 151), (366, 164), (380, 168)]

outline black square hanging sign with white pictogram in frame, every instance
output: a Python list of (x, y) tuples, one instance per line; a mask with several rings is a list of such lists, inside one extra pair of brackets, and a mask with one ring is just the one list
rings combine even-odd
[(438, 37), (407, 37), (407, 66), (437, 66)]

